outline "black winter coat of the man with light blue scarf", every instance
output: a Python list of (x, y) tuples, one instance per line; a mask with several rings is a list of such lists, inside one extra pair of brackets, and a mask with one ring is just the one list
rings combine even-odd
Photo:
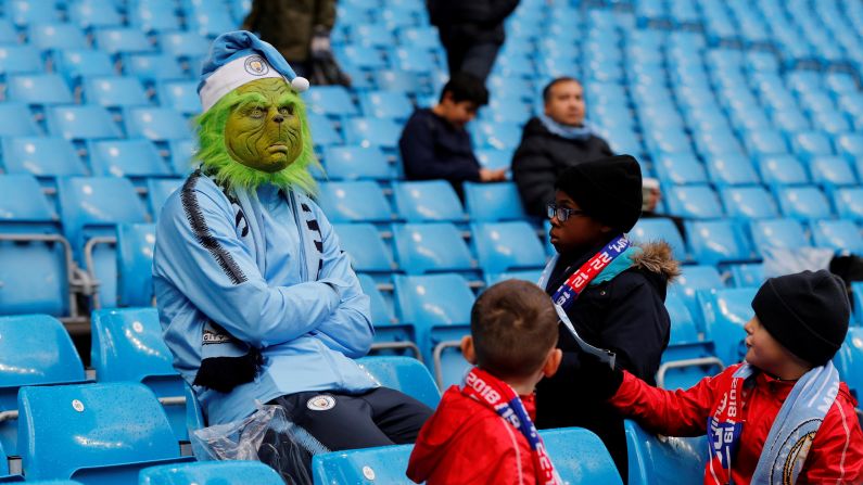
[(545, 205), (555, 200), (555, 180), (561, 171), (611, 155), (608, 143), (599, 137), (569, 140), (548, 131), (540, 118), (531, 118), (512, 155), (512, 180), (519, 188), (524, 209), (532, 216), (544, 217)]

